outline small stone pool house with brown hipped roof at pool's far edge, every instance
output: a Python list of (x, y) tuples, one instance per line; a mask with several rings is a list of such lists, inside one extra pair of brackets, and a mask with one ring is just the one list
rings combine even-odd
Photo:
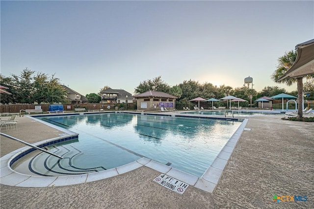
[(177, 96), (156, 91), (148, 91), (133, 96), (137, 99), (137, 110), (160, 111), (160, 107), (167, 110), (176, 108)]

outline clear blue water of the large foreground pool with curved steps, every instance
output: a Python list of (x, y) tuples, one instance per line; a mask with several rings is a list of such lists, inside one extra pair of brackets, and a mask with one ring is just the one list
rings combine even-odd
[(79, 134), (78, 140), (46, 147), (64, 157), (62, 160), (34, 151), (12, 166), (18, 172), (28, 166), (32, 175), (45, 176), (102, 171), (146, 157), (201, 177), (241, 124), (235, 120), (124, 113), (38, 119)]

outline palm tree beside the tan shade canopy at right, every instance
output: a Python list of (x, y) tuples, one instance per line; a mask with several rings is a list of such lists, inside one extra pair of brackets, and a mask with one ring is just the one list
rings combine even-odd
[(303, 117), (302, 112), (302, 102), (303, 102), (303, 77), (297, 78), (286, 78), (279, 81), (279, 78), (282, 77), (293, 65), (297, 56), (296, 51), (288, 51), (278, 58), (278, 66), (274, 73), (270, 76), (270, 78), (275, 81), (276, 83), (286, 83), (287, 86), (291, 86), (295, 82), (297, 83), (298, 89), (298, 117)]

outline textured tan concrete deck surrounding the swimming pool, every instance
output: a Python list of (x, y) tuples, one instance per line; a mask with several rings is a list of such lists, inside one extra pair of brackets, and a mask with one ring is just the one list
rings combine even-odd
[[(212, 193), (189, 186), (183, 195), (153, 181), (160, 172), (139, 167), (111, 178), (71, 186), (0, 186), (1, 208), (314, 208), (314, 124), (251, 116)], [(62, 134), (31, 118), (3, 132), (35, 143)], [(1, 136), (1, 157), (24, 147)], [(307, 201), (275, 203), (278, 196)]]

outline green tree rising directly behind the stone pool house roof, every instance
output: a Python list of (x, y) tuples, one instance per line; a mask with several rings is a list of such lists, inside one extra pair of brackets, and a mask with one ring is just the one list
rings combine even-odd
[(161, 80), (161, 76), (154, 78), (153, 80), (146, 80), (140, 82), (140, 84), (135, 88), (135, 93), (144, 93), (147, 91), (158, 91), (158, 92), (170, 92), (170, 86)]

